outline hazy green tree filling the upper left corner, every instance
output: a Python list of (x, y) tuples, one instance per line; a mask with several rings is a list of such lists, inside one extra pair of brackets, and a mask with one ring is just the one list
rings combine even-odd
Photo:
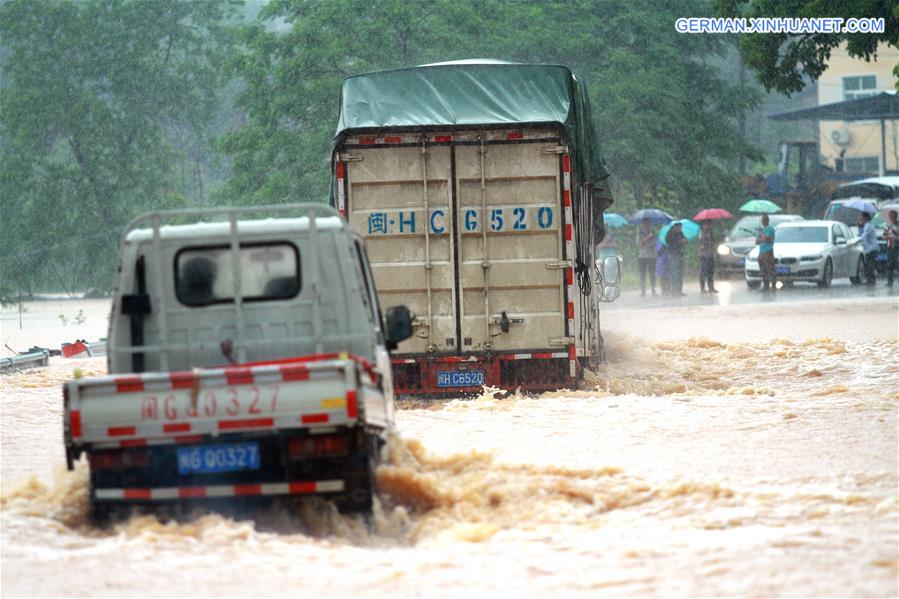
[(203, 143), (219, 104), (232, 13), (225, 1), (0, 5), (5, 281), (108, 286), (122, 226), (184, 201), (179, 150)]

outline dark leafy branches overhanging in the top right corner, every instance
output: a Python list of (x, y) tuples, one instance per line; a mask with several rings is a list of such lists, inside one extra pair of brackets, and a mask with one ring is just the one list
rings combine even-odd
[[(827, 69), (830, 51), (846, 44), (849, 56), (867, 61), (880, 44), (899, 48), (899, 4), (893, 0), (715, 0), (727, 17), (835, 17), (883, 19), (883, 33), (754, 33), (741, 37), (744, 60), (767, 90), (800, 91)], [(899, 65), (894, 69), (899, 77)]]

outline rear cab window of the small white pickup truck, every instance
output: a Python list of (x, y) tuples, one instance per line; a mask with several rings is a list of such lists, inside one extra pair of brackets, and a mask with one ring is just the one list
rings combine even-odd
[[(300, 293), (300, 253), (292, 243), (242, 243), (238, 254), (244, 301), (284, 300)], [(175, 255), (175, 294), (184, 305), (233, 302), (234, 275), (228, 245), (187, 247)]]

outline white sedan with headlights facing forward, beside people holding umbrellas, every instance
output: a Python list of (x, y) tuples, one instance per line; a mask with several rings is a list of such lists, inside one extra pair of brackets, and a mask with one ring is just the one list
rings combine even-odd
[[(849, 277), (858, 285), (865, 257), (858, 236), (844, 223), (806, 220), (774, 229), (774, 268), (777, 280), (786, 284), (808, 281), (829, 287), (833, 279)], [(745, 272), (750, 289), (762, 284), (758, 246), (746, 257)]]

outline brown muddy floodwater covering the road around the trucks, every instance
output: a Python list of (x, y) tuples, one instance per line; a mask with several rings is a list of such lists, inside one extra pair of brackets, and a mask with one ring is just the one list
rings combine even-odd
[[(105, 334), (102, 301), (28, 309), (43, 343)], [(60, 385), (105, 362), (57, 358), (0, 378), (2, 593), (896, 596), (897, 318), (889, 296), (616, 307), (584, 389), (404, 406), (370, 526), (310, 500), (91, 528)]]

